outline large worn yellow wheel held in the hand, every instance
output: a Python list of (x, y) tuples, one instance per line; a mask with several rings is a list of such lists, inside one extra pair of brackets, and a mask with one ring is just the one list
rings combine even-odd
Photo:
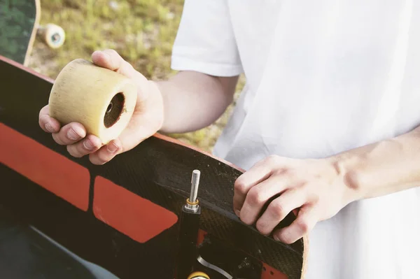
[(76, 59), (58, 74), (48, 103), (60, 124), (79, 122), (106, 144), (127, 127), (136, 101), (137, 86), (130, 78)]

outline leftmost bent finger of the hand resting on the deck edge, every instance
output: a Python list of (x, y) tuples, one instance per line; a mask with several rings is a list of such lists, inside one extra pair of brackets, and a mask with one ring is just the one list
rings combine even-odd
[(240, 215), (240, 210), (246, 199), (246, 194), (251, 187), (266, 180), (272, 173), (272, 167), (270, 164), (265, 164), (265, 161), (258, 162), (249, 171), (243, 173), (235, 181), (235, 192), (233, 195), (233, 209), (236, 215)]

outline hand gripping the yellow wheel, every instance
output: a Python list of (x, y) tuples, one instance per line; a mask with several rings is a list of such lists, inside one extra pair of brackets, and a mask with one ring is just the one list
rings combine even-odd
[(97, 136), (86, 134), (85, 127), (78, 122), (61, 127), (57, 120), (50, 117), (48, 105), (39, 112), (38, 122), (44, 131), (52, 134), (56, 143), (66, 145), (70, 155), (89, 155), (92, 164), (101, 165), (159, 131), (163, 124), (164, 108), (158, 86), (136, 71), (115, 50), (93, 52), (92, 62), (132, 78), (137, 84), (137, 104), (130, 122), (120, 136), (107, 145), (102, 145)]

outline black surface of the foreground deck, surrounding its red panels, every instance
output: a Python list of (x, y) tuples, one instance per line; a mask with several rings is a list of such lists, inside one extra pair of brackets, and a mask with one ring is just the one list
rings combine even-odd
[(52, 83), (1, 59), (0, 73), (1, 122), (85, 166), (91, 176), (90, 208), (85, 213), (1, 164), (1, 206), (120, 278), (172, 278), (177, 225), (147, 243), (133, 241), (94, 217), (93, 180), (95, 176), (103, 176), (179, 215), (190, 191), (191, 172), (200, 169), (202, 229), (286, 273), (289, 278), (300, 278), (302, 241), (292, 246), (276, 243), (241, 223), (233, 213), (232, 187), (240, 171), (157, 137), (148, 138), (103, 166), (92, 165), (87, 157), (73, 158), (38, 127), (38, 113), (48, 103)]

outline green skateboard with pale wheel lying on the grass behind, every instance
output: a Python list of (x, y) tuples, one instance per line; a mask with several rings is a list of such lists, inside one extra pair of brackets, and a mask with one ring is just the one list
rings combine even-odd
[(64, 30), (55, 24), (39, 25), (39, 0), (0, 0), (0, 55), (27, 66), (38, 34), (50, 48), (59, 48)]

